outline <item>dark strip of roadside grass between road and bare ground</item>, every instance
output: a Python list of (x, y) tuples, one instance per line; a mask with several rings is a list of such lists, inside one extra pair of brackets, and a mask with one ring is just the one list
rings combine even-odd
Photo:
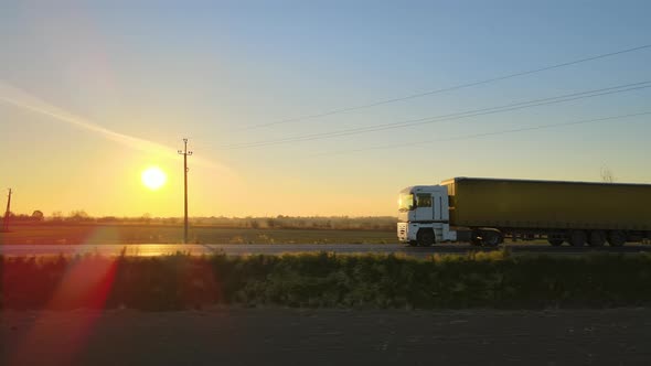
[(651, 256), (286, 255), (6, 257), (3, 309), (214, 304), (301, 308), (612, 308), (651, 304)]

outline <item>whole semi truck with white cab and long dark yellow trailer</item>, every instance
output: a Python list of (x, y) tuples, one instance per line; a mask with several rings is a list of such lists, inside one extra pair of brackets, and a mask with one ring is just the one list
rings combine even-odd
[(455, 177), (399, 192), (397, 235), (410, 246), (504, 238), (619, 247), (651, 239), (651, 184)]

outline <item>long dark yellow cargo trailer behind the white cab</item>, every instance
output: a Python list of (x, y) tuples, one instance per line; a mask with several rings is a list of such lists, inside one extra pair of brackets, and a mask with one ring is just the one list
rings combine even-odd
[(456, 177), (450, 225), (651, 230), (651, 184)]

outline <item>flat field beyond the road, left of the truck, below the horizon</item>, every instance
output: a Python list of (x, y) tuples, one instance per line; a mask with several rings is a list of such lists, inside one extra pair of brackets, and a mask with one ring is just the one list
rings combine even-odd
[[(395, 230), (323, 228), (228, 228), (198, 226), (190, 229), (198, 244), (386, 244), (396, 243)], [(181, 226), (32, 224), (14, 225), (0, 233), (0, 244), (180, 244)]]

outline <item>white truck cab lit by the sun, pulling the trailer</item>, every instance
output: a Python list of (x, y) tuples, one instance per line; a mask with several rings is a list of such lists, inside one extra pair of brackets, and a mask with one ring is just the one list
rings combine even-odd
[(448, 187), (445, 185), (414, 185), (398, 196), (398, 239), (409, 245), (430, 246), (456, 241), (450, 230)]

